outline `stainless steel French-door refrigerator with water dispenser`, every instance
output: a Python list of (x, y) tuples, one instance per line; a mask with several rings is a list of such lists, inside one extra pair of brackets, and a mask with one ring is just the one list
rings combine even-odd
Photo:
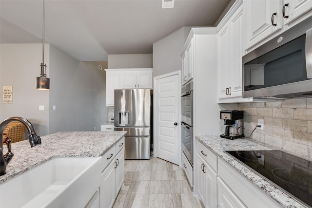
[(114, 130), (127, 131), (125, 159), (150, 159), (152, 90), (115, 90), (114, 96)]

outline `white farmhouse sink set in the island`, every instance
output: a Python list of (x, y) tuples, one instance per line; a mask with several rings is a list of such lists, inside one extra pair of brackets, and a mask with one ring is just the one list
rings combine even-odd
[(83, 208), (100, 181), (100, 157), (53, 158), (0, 184), (0, 208)]

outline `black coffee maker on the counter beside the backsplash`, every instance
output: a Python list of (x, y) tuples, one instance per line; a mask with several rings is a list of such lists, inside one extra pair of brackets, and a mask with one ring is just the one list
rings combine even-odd
[(223, 119), (224, 125), (226, 125), (225, 133), (220, 137), (232, 140), (244, 137), (243, 115), (243, 111), (220, 111), (220, 119)]

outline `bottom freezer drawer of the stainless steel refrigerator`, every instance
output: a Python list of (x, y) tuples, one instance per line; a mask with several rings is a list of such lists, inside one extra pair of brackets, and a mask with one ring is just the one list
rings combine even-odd
[(126, 159), (150, 159), (150, 137), (125, 137)]

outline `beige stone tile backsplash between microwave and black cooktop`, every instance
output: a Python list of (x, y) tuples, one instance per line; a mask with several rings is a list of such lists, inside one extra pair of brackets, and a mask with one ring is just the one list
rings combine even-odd
[(264, 130), (257, 128), (252, 139), (312, 160), (312, 98), (239, 103), (238, 109), (244, 111), (245, 136), (264, 119)]

